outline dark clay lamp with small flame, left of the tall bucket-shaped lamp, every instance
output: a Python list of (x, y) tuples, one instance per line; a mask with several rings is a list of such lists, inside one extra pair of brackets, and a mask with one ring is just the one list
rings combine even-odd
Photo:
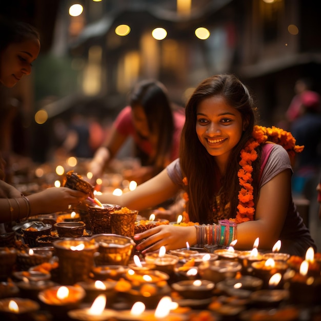
[(29, 270), (31, 267), (49, 262), (52, 251), (48, 248), (32, 248), (28, 253), (21, 251), (17, 253), (17, 265), (20, 270)]

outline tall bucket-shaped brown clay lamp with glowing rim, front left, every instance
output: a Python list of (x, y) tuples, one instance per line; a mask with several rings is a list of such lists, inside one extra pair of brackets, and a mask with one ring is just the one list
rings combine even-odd
[(94, 265), (98, 244), (88, 238), (59, 239), (53, 243), (59, 259), (59, 279), (63, 285), (85, 281)]

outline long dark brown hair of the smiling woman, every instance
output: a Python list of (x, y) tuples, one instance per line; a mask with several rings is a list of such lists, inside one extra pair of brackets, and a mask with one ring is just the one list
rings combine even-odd
[[(219, 182), (222, 186), (226, 203), (230, 202), (231, 204), (230, 217), (235, 217), (238, 204), (237, 195), (240, 187), (237, 171), (239, 170), (240, 151), (251, 137), (255, 123), (256, 109), (253, 98), (249, 90), (232, 74), (215, 75), (205, 79), (191, 95), (185, 110), (186, 121), (182, 131), (179, 156), (183, 175), (188, 179), (189, 202), (187, 210), (190, 219), (199, 223), (213, 223), (207, 222), (207, 217), (212, 211), (218, 169), (213, 156), (206, 151), (197, 137), (195, 129), (196, 112), (200, 102), (216, 95), (223, 96), (227, 104), (238, 110), (242, 114), (243, 122), (246, 124), (240, 141), (230, 154), (228, 170)], [(260, 151), (258, 152), (260, 155)], [(254, 163), (259, 164), (259, 162)], [(253, 177), (256, 177), (259, 165), (253, 164), (253, 169)], [(257, 184), (257, 182), (254, 184)]]

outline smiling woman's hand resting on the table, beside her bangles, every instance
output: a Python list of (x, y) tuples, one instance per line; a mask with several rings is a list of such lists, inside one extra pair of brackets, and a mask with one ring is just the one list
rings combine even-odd
[(186, 242), (196, 244), (196, 230), (194, 226), (160, 225), (143, 233), (134, 235), (134, 240), (143, 240), (136, 246), (142, 254), (154, 252), (161, 246), (166, 250), (186, 248)]

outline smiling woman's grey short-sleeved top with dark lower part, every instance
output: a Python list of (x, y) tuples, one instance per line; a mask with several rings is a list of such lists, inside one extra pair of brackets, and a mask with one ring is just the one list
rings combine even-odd
[[(290, 169), (293, 172), (287, 151), (282, 146), (273, 144), (266, 165), (264, 166), (259, 186), (262, 187), (274, 176), (286, 169)], [(184, 189), (183, 175), (178, 158), (168, 165), (167, 173), (173, 183)], [(271, 202), (272, 201), (273, 200), (271, 200)], [(310, 232), (304, 225), (302, 217), (296, 211), (292, 197), (279, 239), (282, 243), (281, 251), (284, 253), (304, 256), (310, 246), (316, 251), (316, 246), (310, 236)]]

